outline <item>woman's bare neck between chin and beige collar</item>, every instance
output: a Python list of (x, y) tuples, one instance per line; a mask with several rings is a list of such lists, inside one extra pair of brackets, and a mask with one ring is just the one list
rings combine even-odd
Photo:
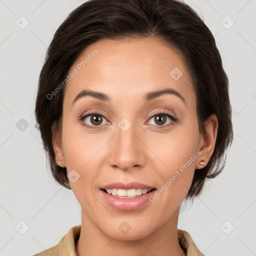
[(132, 240), (120, 240), (102, 232), (91, 219), (81, 211), (81, 232), (76, 242), (77, 256), (186, 256), (177, 237), (179, 208), (162, 226), (148, 235)]

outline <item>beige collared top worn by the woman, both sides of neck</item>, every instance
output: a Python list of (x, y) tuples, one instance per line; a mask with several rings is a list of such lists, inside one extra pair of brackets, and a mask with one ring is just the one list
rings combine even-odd
[[(81, 225), (71, 227), (58, 244), (33, 256), (76, 256), (75, 243), (79, 238), (80, 231)], [(205, 256), (199, 251), (187, 231), (178, 229), (178, 242), (181, 248), (186, 251), (187, 256)]]

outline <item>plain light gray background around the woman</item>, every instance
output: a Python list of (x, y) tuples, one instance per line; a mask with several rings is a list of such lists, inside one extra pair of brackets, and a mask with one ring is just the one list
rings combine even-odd
[[(80, 224), (72, 191), (58, 185), (46, 168), (34, 103), (53, 33), (82, 2), (0, 0), (0, 255), (32, 255)], [(203, 17), (222, 56), (234, 142), (224, 170), (180, 213), (178, 227), (207, 256), (256, 255), (256, 0), (186, 2)], [(29, 22), (23, 29), (21, 15)], [(234, 21), (231, 27), (226, 15)]]

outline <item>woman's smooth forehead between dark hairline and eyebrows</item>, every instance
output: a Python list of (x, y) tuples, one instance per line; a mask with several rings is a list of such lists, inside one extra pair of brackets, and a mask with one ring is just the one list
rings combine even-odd
[(67, 104), (83, 89), (108, 94), (116, 103), (165, 87), (175, 89), (190, 103), (195, 96), (181, 56), (153, 38), (99, 40), (80, 53), (71, 72), (75, 75), (64, 93)]

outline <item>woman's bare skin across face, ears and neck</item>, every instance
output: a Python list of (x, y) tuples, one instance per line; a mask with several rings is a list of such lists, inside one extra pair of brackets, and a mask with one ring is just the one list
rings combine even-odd
[[(179, 207), (192, 182), (201, 158), (207, 164), (215, 145), (217, 118), (212, 114), (205, 135), (199, 133), (196, 97), (185, 63), (177, 52), (152, 37), (129, 40), (100, 40), (88, 47), (73, 63), (74, 68), (95, 48), (99, 52), (67, 83), (63, 100), (62, 134), (52, 125), (56, 161), (75, 169), (80, 178), (70, 182), (81, 205), (81, 233), (76, 243), (78, 256), (94, 255), (175, 255), (184, 256), (177, 237)], [(182, 71), (174, 80), (169, 72)], [(148, 91), (171, 87), (173, 94), (144, 101)], [(91, 96), (72, 101), (82, 89), (108, 94), (111, 102)], [(88, 110), (100, 110), (97, 129), (90, 117), (78, 121)], [(158, 128), (150, 114), (168, 111), (178, 118), (166, 117)], [(108, 118), (110, 117), (110, 119)], [(127, 118), (127, 131), (118, 123)], [(105, 125), (107, 124), (108, 125)], [(141, 208), (121, 211), (100, 196), (99, 188), (114, 181), (137, 181), (159, 189), (183, 163), (200, 151), (201, 155), (154, 201)], [(122, 233), (118, 226), (128, 222), (131, 229)], [(95, 255), (97, 255), (95, 254)]]

